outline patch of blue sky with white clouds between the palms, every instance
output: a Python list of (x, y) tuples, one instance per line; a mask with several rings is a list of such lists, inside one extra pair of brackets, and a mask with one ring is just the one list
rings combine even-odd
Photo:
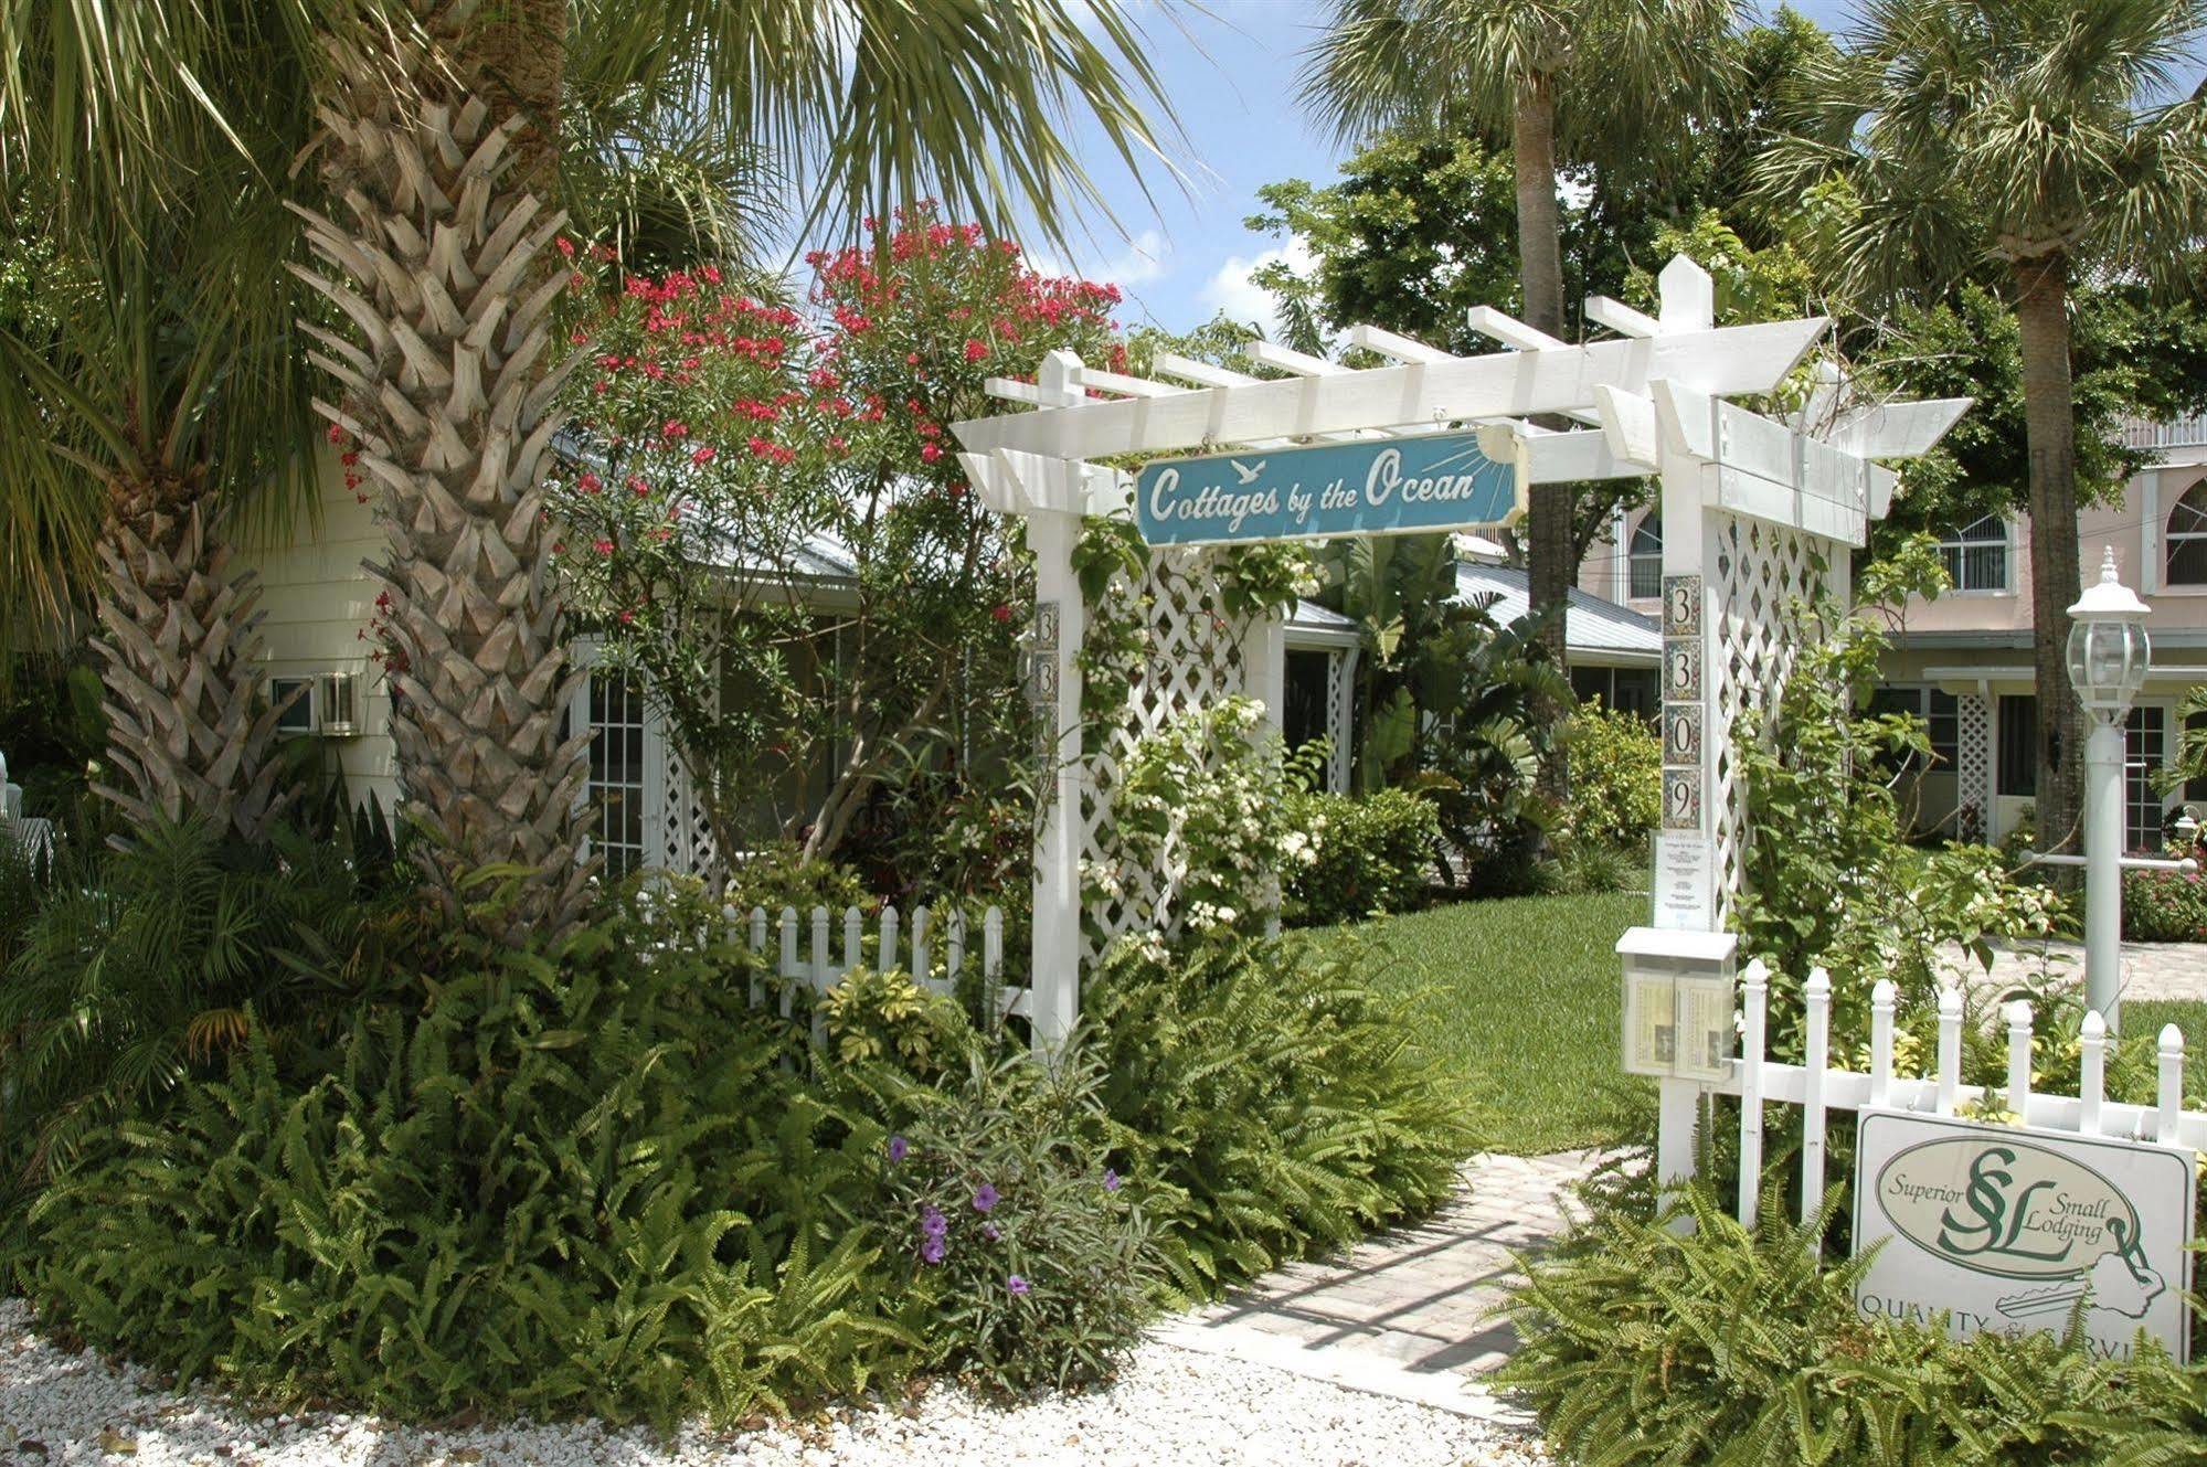
[[(1187, 132), (1185, 185), (1152, 165), (1150, 199), (1108, 148), (1081, 141), (1110, 216), (1081, 221), (1066, 251), (1035, 251), (1048, 265), (1117, 282), (1128, 300), (1121, 322), (1187, 331), (1227, 309), (1271, 320), (1249, 271), (1278, 258), (1284, 240), (1243, 227), (1260, 210), (1256, 190), (1280, 179), (1324, 183), (1344, 154), (1296, 99), (1300, 51), (1318, 35), (1324, 0), (1203, 0), (1161, 9), (1121, 0), (1148, 38), (1148, 55)], [(1794, 0), (1830, 31), (1845, 31), (1847, 0)], [(1152, 203), (1154, 199), (1154, 203)], [(1117, 221), (1117, 223), (1115, 223)]]

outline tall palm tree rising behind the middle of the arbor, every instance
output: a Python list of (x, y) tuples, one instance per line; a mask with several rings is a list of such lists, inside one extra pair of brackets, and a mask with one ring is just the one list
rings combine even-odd
[[(1333, 24), (1311, 46), (1304, 101), (1344, 139), (1395, 128), (1507, 135), (1516, 165), (1523, 320), (1565, 335), (1556, 170), (1567, 159), (1629, 165), (1649, 128), (1684, 126), (1721, 79), (1717, 42), (1735, 0), (1333, 0)], [(1532, 611), (1563, 607), (1576, 490), (1532, 496)], [(1565, 662), (1563, 613), (1543, 640)], [(1569, 781), (1563, 746), (1543, 783)]]

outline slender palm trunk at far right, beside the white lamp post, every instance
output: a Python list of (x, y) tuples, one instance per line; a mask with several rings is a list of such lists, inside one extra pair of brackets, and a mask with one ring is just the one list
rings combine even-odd
[(2030, 446), (2030, 653), (2039, 693), (2039, 849), (2077, 843), (2083, 807), (2083, 706), (2064, 651), (2077, 602), (2077, 404), (2070, 390), (2068, 256), (2015, 263)]

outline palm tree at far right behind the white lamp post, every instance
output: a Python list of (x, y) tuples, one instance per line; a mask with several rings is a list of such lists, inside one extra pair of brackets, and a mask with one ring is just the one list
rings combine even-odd
[[(2207, 227), (2207, 97), (2176, 75), (2198, 0), (1874, 0), (1759, 163), (1779, 199), (1843, 181), (1834, 240), (1872, 298), (1986, 280), (2015, 304), (2030, 448), (2039, 834), (2068, 843), (2083, 708), (2061, 666), (2079, 591), (2070, 285), (2183, 287)], [(2189, 282), (2196, 289), (2196, 280)]]

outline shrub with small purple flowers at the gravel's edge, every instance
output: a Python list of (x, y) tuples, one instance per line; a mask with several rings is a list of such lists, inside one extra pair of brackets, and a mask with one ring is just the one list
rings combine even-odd
[(1097, 1077), (973, 1057), (889, 1136), (883, 1231), (934, 1299), (940, 1363), (993, 1392), (1090, 1385), (1141, 1339), (1159, 1264), (1097, 1147)]

